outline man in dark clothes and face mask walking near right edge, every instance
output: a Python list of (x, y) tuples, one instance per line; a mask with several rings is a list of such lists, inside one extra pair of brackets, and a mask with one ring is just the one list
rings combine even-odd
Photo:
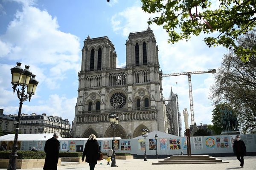
[(240, 135), (236, 136), (236, 140), (233, 144), (233, 151), (236, 158), (240, 161), (240, 166), (244, 167), (244, 156), (246, 154), (246, 147), (244, 141), (241, 140)]

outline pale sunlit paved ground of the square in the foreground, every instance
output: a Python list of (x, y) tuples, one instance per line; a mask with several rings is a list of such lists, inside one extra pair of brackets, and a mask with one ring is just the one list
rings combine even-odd
[[(99, 161), (102, 164), (96, 164), (95, 170), (256, 170), (256, 156), (244, 157), (244, 168), (241, 168), (236, 157), (217, 157), (218, 159), (228, 161), (227, 164), (169, 164), (169, 165), (152, 165), (157, 159), (130, 159), (116, 160), (118, 167), (110, 167), (106, 161)], [(163, 160), (163, 159), (159, 159)], [(26, 169), (26, 170), (42, 170), (43, 168)], [(0, 169), (5, 170), (5, 169)], [(58, 170), (89, 170), (89, 164), (76, 164), (58, 167)]]

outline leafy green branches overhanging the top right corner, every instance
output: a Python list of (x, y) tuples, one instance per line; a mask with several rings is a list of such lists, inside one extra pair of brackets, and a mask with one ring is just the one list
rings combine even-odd
[(256, 46), (250, 49), (236, 43), (240, 35), (247, 34), (256, 26), (255, 0), (218, 0), (216, 9), (213, 9), (215, 4), (212, 0), (141, 1), (145, 12), (157, 15), (149, 18), (148, 24), (163, 26), (169, 34), (169, 42), (217, 32), (217, 36), (211, 34), (204, 38), (209, 47), (222, 45), (233, 48), (243, 61), (248, 61), (256, 52)]

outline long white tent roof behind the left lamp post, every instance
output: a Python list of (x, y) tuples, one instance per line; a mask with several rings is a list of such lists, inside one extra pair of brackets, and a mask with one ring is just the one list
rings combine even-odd
[[(0, 141), (14, 141), (15, 134), (0, 136)], [(53, 133), (19, 134), (18, 141), (44, 141), (53, 137)], [(58, 139), (62, 139), (61, 136)]]

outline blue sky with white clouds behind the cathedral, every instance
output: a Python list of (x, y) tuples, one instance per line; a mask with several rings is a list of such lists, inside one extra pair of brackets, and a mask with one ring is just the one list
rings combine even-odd
[[(91, 38), (108, 36), (116, 48), (117, 67), (125, 67), (129, 33), (148, 28), (151, 15), (143, 12), (141, 6), (140, 0), (0, 0), (0, 108), (5, 114), (18, 112), (10, 69), (22, 62), (22, 67), (29, 65), (39, 81), (35, 96), (23, 103), (22, 113), (47, 113), (71, 122), (84, 39), (88, 34)], [(156, 36), (163, 74), (213, 68), (218, 71), (227, 53), (222, 47), (207, 47), (204, 35), (168, 44), (168, 35), (161, 26), (150, 27)], [(213, 106), (208, 96), (213, 83), (213, 74), (192, 75), (198, 125), (211, 123)], [(171, 87), (179, 95), (180, 112), (188, 108), (190, 113), (188, 77), (164, 77), (166, 99)]]

